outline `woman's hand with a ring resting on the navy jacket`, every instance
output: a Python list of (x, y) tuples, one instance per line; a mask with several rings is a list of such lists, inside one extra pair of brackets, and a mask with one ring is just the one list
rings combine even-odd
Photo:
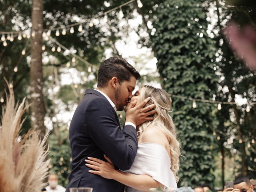
[(100, 175), (106, 179), (112, 179), (112, 176), (115, 172), (114, 165), (107, 156), (104, 155), (104, 158), (108, 162), (102, 161), (97, 158), (88, 157), (89, 160), (85, 160), (85, 165), (93, 169), (89, 170), (90, 173)]

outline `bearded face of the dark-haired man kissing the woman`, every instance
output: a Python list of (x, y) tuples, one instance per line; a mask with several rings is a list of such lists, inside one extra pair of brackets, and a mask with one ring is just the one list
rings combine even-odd
[(115, 100), (116, 100), (116, 110), (124, 110), (124, 106), (130, 102), (132, 98), (132, 91), (136, 85), (136, 78), (134, 76), (130, 77), (130, 81), (124, 81), (122, 84), (119, 84), (115, 91)]

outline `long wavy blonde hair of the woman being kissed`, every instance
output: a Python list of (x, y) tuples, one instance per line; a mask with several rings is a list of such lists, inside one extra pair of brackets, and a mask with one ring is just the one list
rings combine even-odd
[[(145, 100), (146, 98), (151, 97), (151, 100), (156, 104), (154, 110), (154, 120), (147, 121), (140, 124), (138, 129), (138, 137), (148, 128), (154, 126), (155, 128), (160, 129), (168, 139), (171, 152), (171, 170), (174, 173), (176, 182), (179, 178), (177, 176), (178, 170), (180, 167), (180, 148), (181, 144), (177, 140), (176, 127), (174, 122), (169, 115), (170, 106), (172, 100), (168, 93), (162, 89), (154, 88), (152, 86), (142, 86), (140, 89), (140, 98)], [(148, 102), (146, 106), (152, 104), (153, 102)]]

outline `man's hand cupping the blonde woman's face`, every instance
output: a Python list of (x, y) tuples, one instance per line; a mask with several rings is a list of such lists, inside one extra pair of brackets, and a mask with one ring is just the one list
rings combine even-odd
[(155, 110), (152, 110), (156, 107), (153, 103), (144, 108), (144, 106), (151, 100), (150, 97), (146, 98), (139, 105), (136, 105), (136, 100), (132, 102), (129, 106), (126, 106), (126, 122), (132, 122), (136, 126), (144, 123), (145, 121), (153, 120), (153, 117), (148, 117), (151, 114), (155, 113)]

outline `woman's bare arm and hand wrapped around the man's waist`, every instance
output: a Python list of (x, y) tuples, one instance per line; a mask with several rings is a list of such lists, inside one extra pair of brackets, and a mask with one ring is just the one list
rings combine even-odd
[[(110, 162), (109, 158), (105, 158), (108, 160), (108, 162)], [(86, 160), (86, 162), (90, 163), (86, 164), (86, 166), (94, 169), (89, 170), (90, 173), (100, 175), (107, 179), (114, 179), (124, 185), (130, 186), (137, 190), (149, 191), (150, 188), (157, 188), (158, 186), (164, 187), (161, 183), (154, 180), (151, 176), (136, 175), (118, 171), (113, 168), (112, 164), (97, 158), (90, 158), (90, 160)]]

